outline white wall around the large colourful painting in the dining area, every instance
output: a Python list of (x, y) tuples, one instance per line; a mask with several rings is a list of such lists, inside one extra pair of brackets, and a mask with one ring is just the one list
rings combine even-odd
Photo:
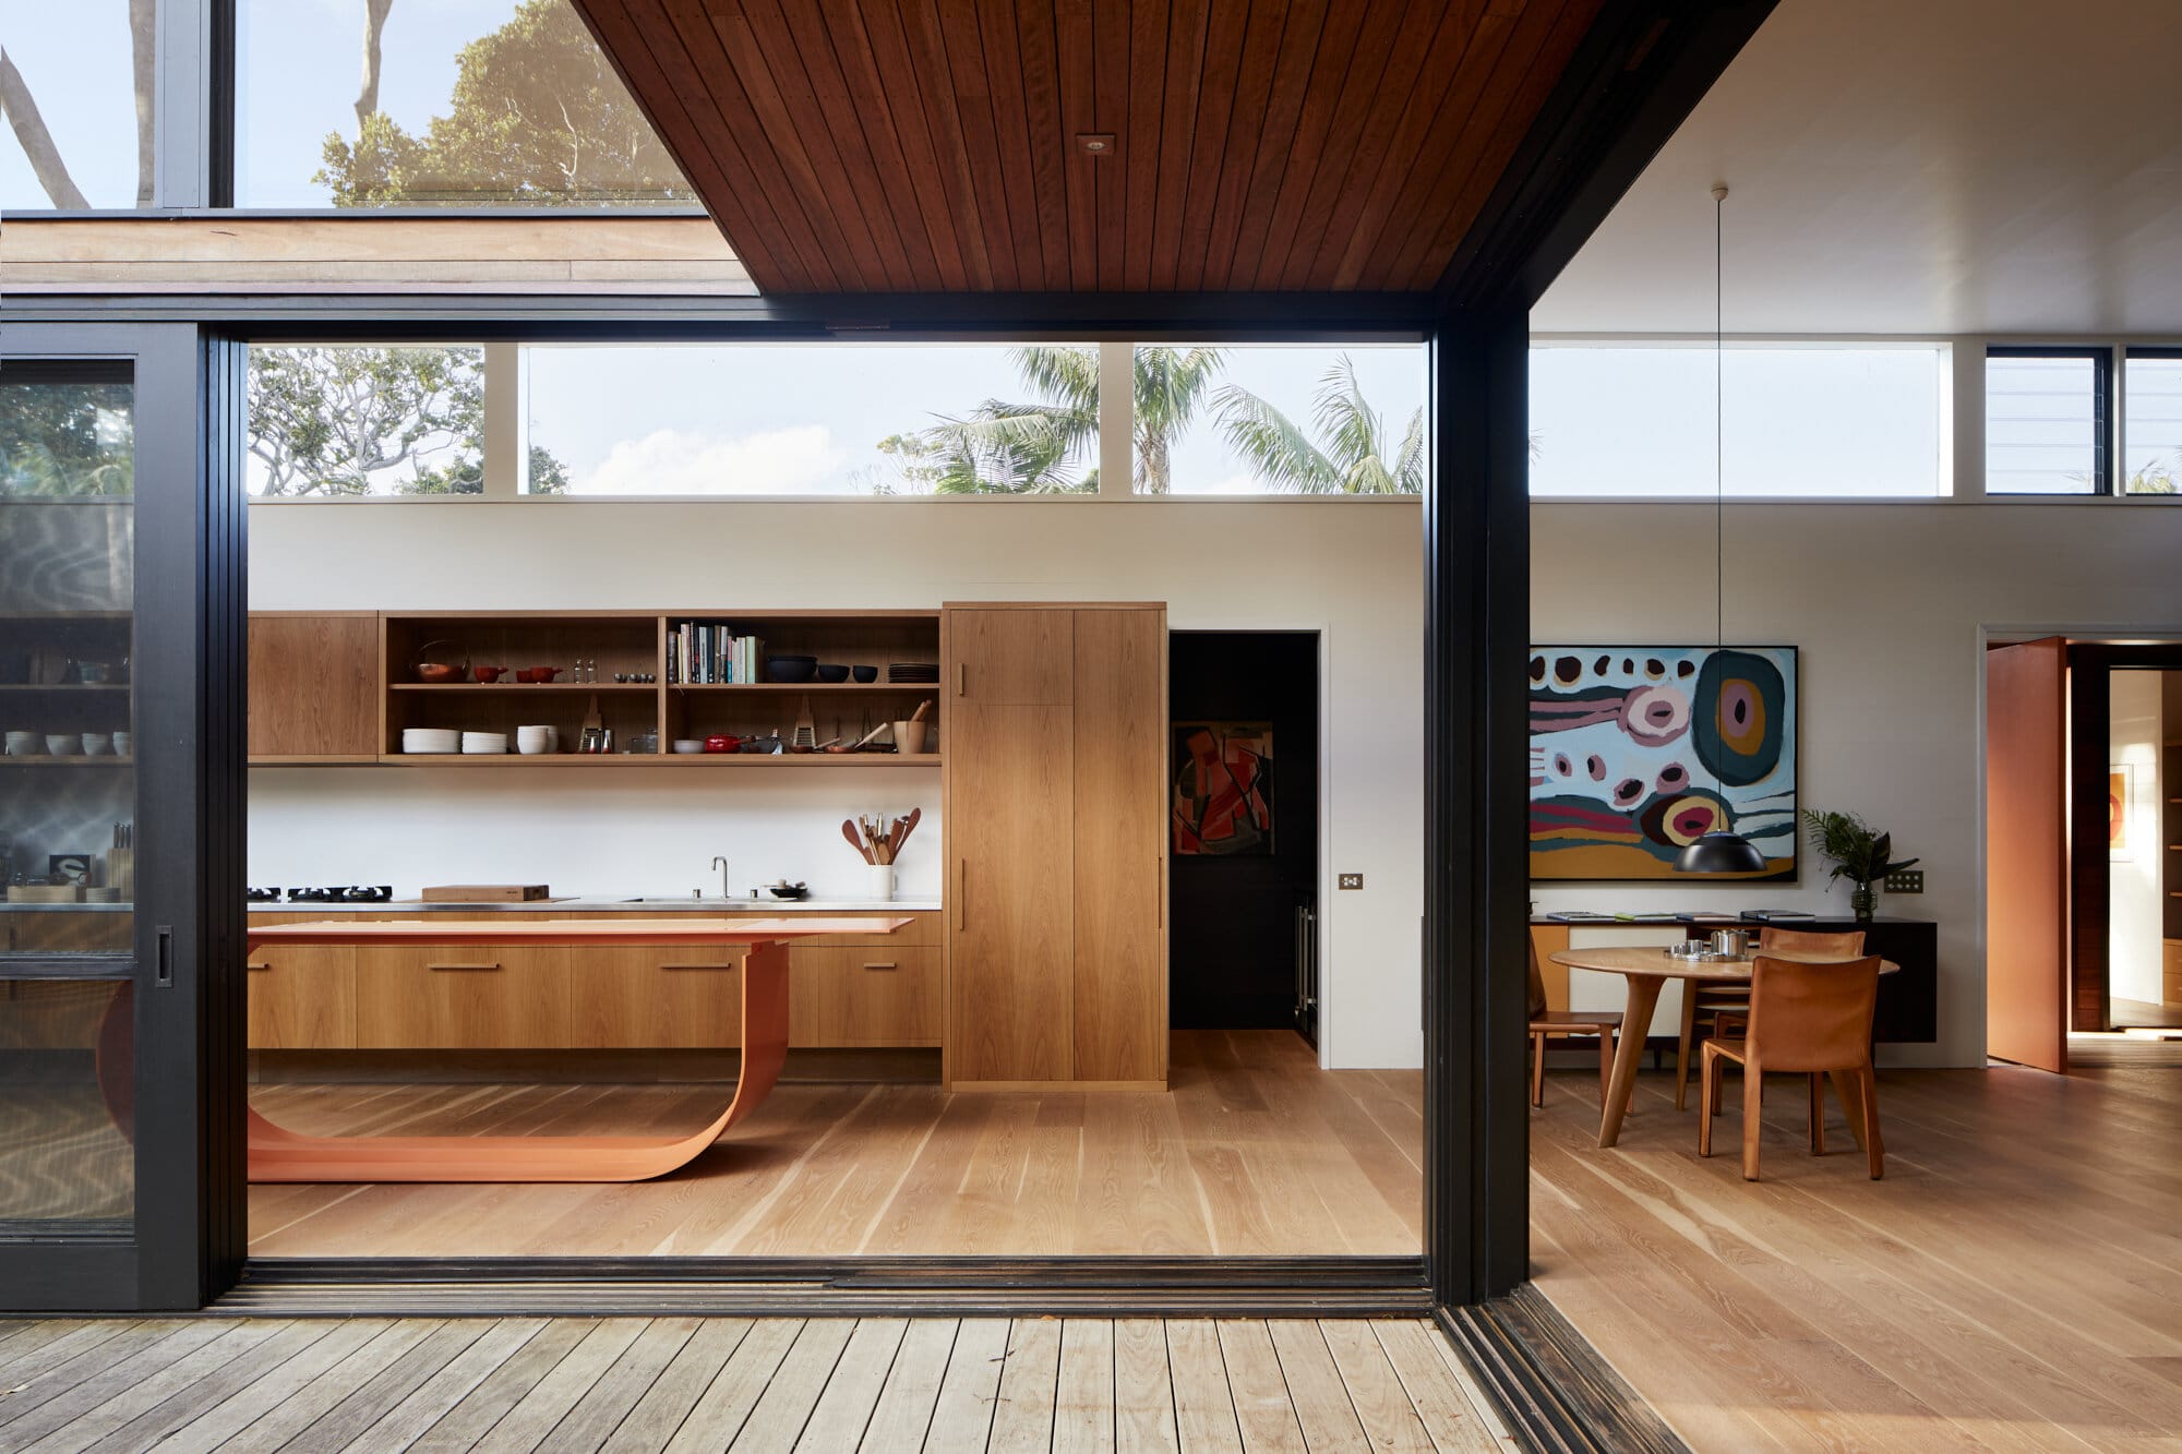
[[(1713, 640), (1713, 506), (1532, 509), (1532, 640)], [(1983, 631), (2182, 631), (2182, 509), (2160, 504), (1728, 504), (1730, 642), (1802, 648), (1802, 803), (1848, 808), (1925, 862), (1881, 913), (1940, 923), (1940, 1039), (1896, 1063), (1977, 1065), (1983, 996)], [(1802, 882), (1540, 886), (1543, 908), (1848, 910)]]

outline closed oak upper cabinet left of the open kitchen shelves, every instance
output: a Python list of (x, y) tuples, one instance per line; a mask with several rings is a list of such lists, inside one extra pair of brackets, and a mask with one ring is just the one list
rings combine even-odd
[(255, 762), (375, 762), (380, 618), (371, 611), (251, 611), (249, 755)]

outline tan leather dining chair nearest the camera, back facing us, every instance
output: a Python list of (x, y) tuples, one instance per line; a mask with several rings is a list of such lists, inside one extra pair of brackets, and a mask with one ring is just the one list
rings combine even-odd
[[(1750, 1028), (1741, 1039), (1704, 1041), (1704, 1094), (1698, 1103), (1698, 1155), (1713, 1155), (1713, 1113), (1726, 1061), (1743, 1068), (1743, 1181), (1759, 1179), (1759, 1087), (1767, 1070), (1811, 1076), (1811, 1155), (1826, 1151), (1826, 1076), (1857, 1089), (1844, 1105), (1861, 1120), (1872, 1181), (1885, 1172), (1879, 1144), (1879, 1078), (1872, 1074), (1872, 1011), (1879, 1004), (1879, 958), (1807, 963), (1759, 954), (1750, 974)], [(1842, 1100), (1848, 1100), (1844, 1089)]]

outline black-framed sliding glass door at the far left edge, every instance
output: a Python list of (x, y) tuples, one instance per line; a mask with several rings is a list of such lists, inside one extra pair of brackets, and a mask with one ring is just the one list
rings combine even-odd
[(233, 1240), (203, 1175), (238, 1072), (199, 908), (212, 360), (194, 327), (0, 349), (0, 1308), (194, 1308)]

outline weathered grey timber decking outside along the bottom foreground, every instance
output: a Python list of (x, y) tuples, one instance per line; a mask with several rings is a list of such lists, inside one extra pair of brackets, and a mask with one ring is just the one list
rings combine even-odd
[(7, 1450), (1512, 1450), (1420, 1321), (0, 1321)]

